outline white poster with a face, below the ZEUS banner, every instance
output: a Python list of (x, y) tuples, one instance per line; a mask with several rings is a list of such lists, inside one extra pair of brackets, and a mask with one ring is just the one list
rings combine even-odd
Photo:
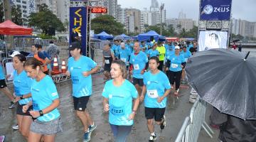
[(228, 47), (228, 32), (200, 31), (198, 51)]

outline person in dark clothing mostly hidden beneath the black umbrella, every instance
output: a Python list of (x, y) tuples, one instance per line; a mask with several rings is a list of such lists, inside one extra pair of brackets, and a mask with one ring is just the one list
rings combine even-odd
[(220, 126), (219, 138), (223, 142), (255, 142), (256, 120), (243, 120), (228, 115), (228, 121)]

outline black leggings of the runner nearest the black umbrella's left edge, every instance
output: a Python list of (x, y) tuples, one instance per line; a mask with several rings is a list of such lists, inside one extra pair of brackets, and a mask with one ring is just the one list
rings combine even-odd
[(175, 90), (177, 91), (178, 88), (180, 87), (181, 85), (181, 73), (182, 73), (182, 70), (181, 71), (178, 71), (178, 72), (173, 72), (171, 70), (168, 70), (166, 72), (166, 74), (168, 75), (169, 77), (169, 81), (170, 83), (174, 86), (174, 82), (175, 82)]

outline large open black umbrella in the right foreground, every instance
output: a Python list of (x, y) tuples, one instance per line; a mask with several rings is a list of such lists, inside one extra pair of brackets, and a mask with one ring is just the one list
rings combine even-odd
[(248, 55), (228, 49), (198, 52), (188, 59), (188, 82), (220, 112), (256, 119), (256, 58)]

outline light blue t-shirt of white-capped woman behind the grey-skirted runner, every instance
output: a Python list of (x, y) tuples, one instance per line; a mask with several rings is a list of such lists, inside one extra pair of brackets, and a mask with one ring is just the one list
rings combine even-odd
[[(23, 70), (19, 75), (17, 70), (14, 70), (14, 92), (17, 97), (28, 94), (31, 92), (31, 77), (28, 77), (25, 70)], [(32, 98), (21, 99), (18, 101), (18, 104), (28, 104), (31, 102)]]

